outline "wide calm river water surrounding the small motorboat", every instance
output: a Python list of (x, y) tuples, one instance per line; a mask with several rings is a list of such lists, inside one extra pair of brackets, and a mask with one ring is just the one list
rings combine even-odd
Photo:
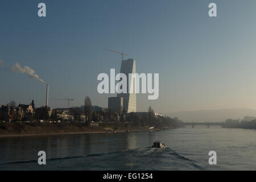
[[(161, 140), (166, 148), (149, 148)], [(46, 165), (38, 164), (46, 152)], [(217, 165), (210, 165), (216, 151)], [(0, 170), (256, 170), (256, 130), (165, 131), (0, 138)]]

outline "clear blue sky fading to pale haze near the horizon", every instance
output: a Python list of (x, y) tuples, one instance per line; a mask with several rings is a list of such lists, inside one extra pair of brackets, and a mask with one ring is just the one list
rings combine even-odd
[[(38, 4), (46, 3), (46, 17)], [(217, 17), (208, 5), (217, 4)], [(159, 98), (137, 94), (137, 111), (256, 109), (256, 1), (0, 1), (0, 60), (30, 67), (49, 84), (49, 106), (106, 107), (97, 76), (119, 71), (123, 51), (137, 73), (159, 73)], [(45, 105), (46, 84), (0, 70), (0, 105)]]

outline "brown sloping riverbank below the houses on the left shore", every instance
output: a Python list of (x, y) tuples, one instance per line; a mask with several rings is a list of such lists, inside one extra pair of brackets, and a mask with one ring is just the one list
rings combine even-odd
[(127, 123), (104, 123), (100, 126), (86, 126), (85, 123), (1, 123), (0, 138), (2, 137), (32, 137), (67, 134), (98, 134), (119, 133), (131, 131), (159, 131), (174, 129), (160, 127), (149, 129), (148, 126), (132, 126)]

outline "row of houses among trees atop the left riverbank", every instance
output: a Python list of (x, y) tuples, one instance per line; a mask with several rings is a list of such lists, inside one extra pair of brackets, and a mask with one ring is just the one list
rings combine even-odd
[[(121, 121), (125, 114), (110, 113), (107, 109), (92, 106), (92, 122)], [(35, 108), (31, 104), (2, 105), (0, 121), (85, 121), (84, 106), (52, 109), (48, 106)]]

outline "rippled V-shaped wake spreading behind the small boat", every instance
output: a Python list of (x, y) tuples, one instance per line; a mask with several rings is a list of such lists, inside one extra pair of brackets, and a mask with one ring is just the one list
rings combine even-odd
[[(154, 165), (152, 165), (154, 164)], [(3, 163), (0, 166), (39, 166), (38, 160)], [(123, 151), (102, 152), (82, 156), (47, 159), (47, 166), (55, 169), (75, 170), (184, 170), (201, 169), (192, 159), (164, 148), (134, 148)], [(121, 167), (120, 167), (121, 166)], [(31, 167), (32, 168), (32, 167)], [(36, 169), (36, 168), (32, 168)]]

